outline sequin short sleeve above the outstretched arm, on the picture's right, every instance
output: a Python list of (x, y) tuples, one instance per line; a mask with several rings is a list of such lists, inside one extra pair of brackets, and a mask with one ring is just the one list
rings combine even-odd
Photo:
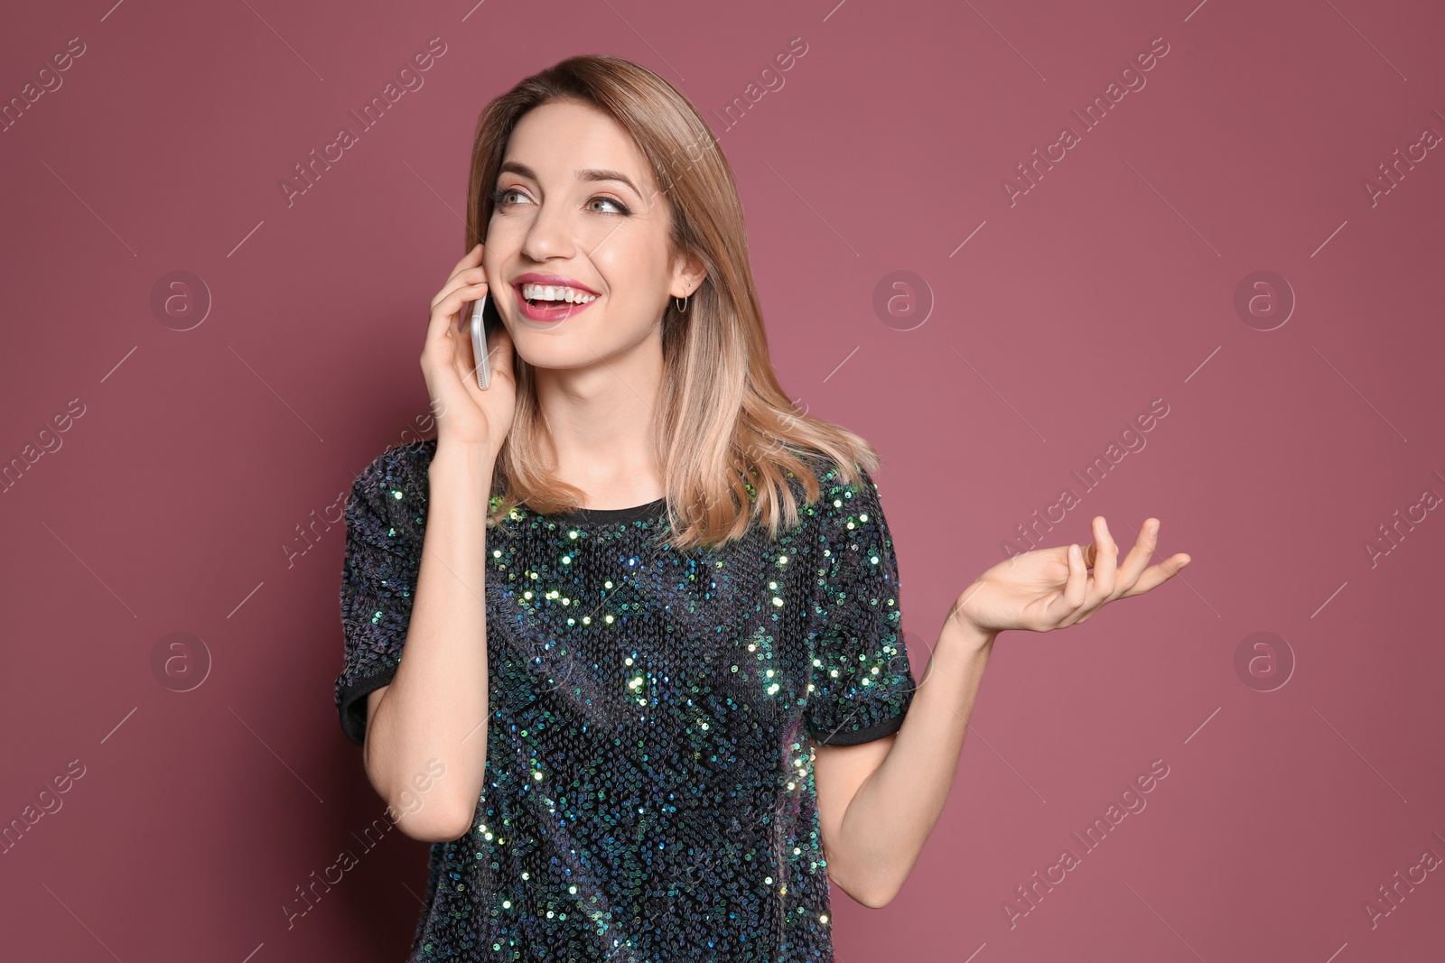
[(897, 732), (913, 702), (903, 641), (897, 559), (877, 485), (821, 476), (814, 505), (818, 583), (806, 725), (824, 745), (858, 745)]

